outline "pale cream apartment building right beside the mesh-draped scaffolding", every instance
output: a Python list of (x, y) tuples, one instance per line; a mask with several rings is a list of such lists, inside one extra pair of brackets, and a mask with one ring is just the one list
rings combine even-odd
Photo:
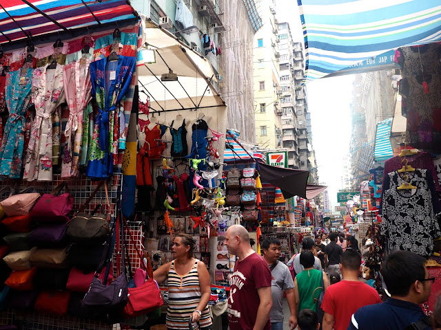
[(260, 0), (263, 26), (254, 36), (254, 109), (256, 144), (260, 148), (283, 146), (280, 98), (280, 52), (274, 0)]

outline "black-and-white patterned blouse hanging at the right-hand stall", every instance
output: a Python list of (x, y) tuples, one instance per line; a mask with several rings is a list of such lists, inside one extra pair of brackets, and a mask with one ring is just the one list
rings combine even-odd
[(407, 175), (416, 189), (398, 190), (404, 179), (397, 171), (384, 176), (383, 234), (389, 239), (390, 251), (407, 250), (431, 256), (433, 239), (441, 236), (440, 201), (428, 170), (416, 168)]

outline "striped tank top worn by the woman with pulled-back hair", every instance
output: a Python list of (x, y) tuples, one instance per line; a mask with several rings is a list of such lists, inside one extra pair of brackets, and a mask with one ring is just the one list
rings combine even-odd
[[(187, 274), (179, 275), (174, 269), (174, 261), (168, 272), (168, 307), (166, 324), (169, 329), (188, 329), (188, 320), (201, 300), (201, 287), (199, 286), (198, 259), (192, 270)], [(201, 328), (212, 325), (208, 307), (202, 310), (199, 320)]]

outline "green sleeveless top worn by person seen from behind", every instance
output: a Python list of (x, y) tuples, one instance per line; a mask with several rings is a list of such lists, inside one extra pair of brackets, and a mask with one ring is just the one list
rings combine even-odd
[[(322, 286), (322, 276), (323, 273), (320, 270), (304, 270), (297, 274), (296, 279), (300, 300), (299, 311), (305, 308), (317, 311), (317, 304), (314, 303), (314, 298), (320, 296), (322, 289), (317, 289), (316, 292), (314, 290)], [(312, 296), (313, 292), (314, 298)]]

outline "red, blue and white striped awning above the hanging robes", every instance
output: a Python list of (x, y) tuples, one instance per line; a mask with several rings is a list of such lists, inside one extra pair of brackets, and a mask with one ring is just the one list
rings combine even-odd
[(126, 0), (1, 0), (0, 43), (136, 15)]

